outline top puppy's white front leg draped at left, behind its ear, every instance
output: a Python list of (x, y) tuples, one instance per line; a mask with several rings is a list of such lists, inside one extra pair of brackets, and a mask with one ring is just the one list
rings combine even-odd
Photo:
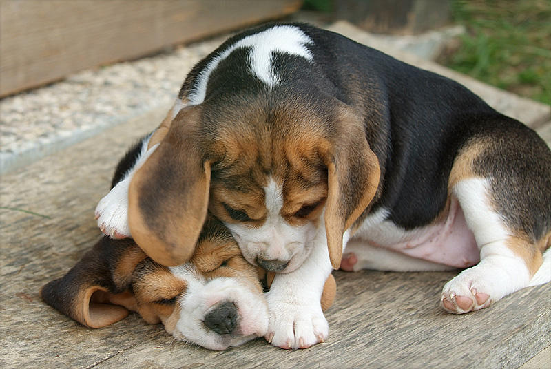
[(147, 136), (141, 142), (141, 149), (136, 157), (136, 162), (125, 173), (122, 180), (115, 184), (107, 195), (105, 195), (96, 207), (95, 217), (98, 227), (110, 238), (130, 237), (128, 226), (128, 188), (134, 172), (143, 165), (145, 160), (155, 151), (158, 145), (147, 149), (149, 138)]

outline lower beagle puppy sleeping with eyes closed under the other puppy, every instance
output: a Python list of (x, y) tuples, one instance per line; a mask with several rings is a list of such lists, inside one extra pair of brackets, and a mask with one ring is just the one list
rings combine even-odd
[[(113, 185), (138, 158), (147, 138), (119, 163)], [(176, 339), (225, 350), (263, 337), (268, 310), (260, 280), (273, 273), (249, 264), (228, 229), (209, 215), (190, 260), (161, 266), (130, 239), (103, 236), (63, 277), (46, 284), (41, 297), (61, 313), (90, 328), (101, 328), (138, 312), (150, 324), (162, 322)], [(322, 305), (335, 297), (326, 282)]]

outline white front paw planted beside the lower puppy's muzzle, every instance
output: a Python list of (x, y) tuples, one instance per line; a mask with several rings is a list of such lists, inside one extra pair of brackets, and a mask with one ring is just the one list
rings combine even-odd
[(299, 305), (268, 302), (270, 309), (266, 340), (280, 348), (309, 348), (324, 342), (329, 324), (320, 304)]

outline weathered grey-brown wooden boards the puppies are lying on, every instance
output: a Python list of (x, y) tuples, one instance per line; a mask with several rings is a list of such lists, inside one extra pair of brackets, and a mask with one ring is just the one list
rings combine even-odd
[(165, 112), (1, 178), (2, 368), (517, 368), (549, 345), (551, 284), (525, 288), (477, 313), (450, 315), (437, 304), (455, 275), (450, 272), (335, 272), (329, 339), (308, 350), (280, 350), (258, 339), (212, 352), (174, 341), (136, 315), (98, 330), (60, 315), (41, 302), (39, 288), (99, 237), (94, 207), (116, 161)]

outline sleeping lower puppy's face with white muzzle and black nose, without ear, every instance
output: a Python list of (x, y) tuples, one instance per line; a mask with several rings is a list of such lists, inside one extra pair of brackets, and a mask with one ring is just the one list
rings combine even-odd
[(211, 350), (267, 333), (257, 268), (243, 259), (231, 233), (213, 218), (207, 218), (189, 262), (167, 268), (144, 260), (134, 272), (132, 290), (146, 321), (162, 321), (177, 339)]

